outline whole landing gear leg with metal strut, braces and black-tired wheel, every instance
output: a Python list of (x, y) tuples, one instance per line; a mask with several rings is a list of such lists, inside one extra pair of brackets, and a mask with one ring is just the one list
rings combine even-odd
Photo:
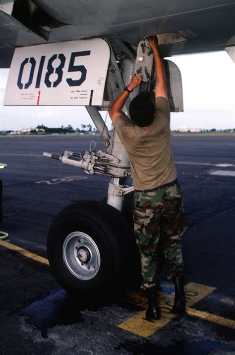
[[(134, 74), (133, 50), (121, 41), (109, 42), (111, 63), (107, 79), (109, 102), (113, 102)], [(138, 94), (138, 89), (135, 94)], [(129, 99), (124, 107), (127, 114)], [(48, 233), (48, 258), (59, 284), (70, 294), (114, 294), (132, 284), (138, 287), (140, 262), (133, 226), (124, 216), (125, 196), (133, 191), (126, 186), (131, 176), (127, 153), (113, 128), (111, 136), (99, 110), (88, 106), (106, 151), (65, 151), (45, 157), (82, 169), (87, 174), (111, 177), (107, 202), (80, 201), (65, 207), (54, 219)], [(103, 109), (108, 109), (104, 103)], [(131, 206), (129, 204), (129, 210)], [(129, 211), (129, 213), (131, 213)]]

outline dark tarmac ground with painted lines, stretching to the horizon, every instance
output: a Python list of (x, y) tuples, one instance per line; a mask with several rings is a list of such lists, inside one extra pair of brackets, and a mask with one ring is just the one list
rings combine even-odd
[[(90, 176), (42, 156), (89, 150), (99, 136), (0, 137), (3, 181), (0, 241), (0, 355), (235, 354), (235, 136), (173, 136), (184, 208), (182, 240), (187, 314), (170, 313), (173, 287), (164, 277), (162, 320), (144, 319), (146, 299), (84, 307), (52, 275), (46, 240), (66, 205), (101, 200), (109, 177)], [(129, 181), (130, 182), (130, 181)]]

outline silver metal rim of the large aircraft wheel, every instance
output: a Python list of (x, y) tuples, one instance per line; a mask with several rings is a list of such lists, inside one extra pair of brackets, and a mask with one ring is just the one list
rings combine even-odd
[(94, 240), (83, 232), (70, 233), (63, 243), (63, 259), (69, 271), (90, 280), (100, 269), (100, 252)]

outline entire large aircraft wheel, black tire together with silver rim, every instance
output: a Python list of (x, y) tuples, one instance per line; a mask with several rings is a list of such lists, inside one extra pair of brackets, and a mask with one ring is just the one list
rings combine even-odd
[(47, 250), (52, 272), (72, 295), (117, 295), (134, 270), (138, 275), (133, 229), (103, 202), (65, 207), (49, 229)]

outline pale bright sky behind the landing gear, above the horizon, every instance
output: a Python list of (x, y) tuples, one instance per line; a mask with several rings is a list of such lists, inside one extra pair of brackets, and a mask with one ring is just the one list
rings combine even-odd
[[(224, 52), (169, 58), (182, 75), (184, 112), (171, 114), (171, 129), (235, 128), (235, 64)], [(94, 124), (82, 106), (3, 106), (8, 69), (0, 69), (0, 130)], [(104, 118), (106, 112), (103, 112)], [(111, 128), (111, 120), (107, 117)]]

